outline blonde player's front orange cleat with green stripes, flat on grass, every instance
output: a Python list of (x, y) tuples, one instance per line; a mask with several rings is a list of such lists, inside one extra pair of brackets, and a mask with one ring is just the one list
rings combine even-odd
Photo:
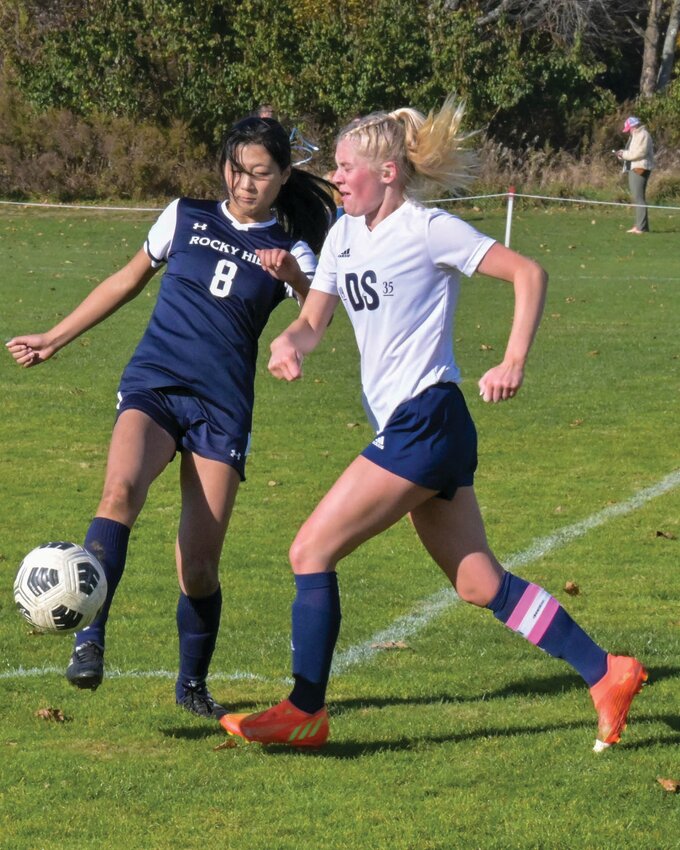
[(258, 744), (322, 747), (328, 740), (326, 706), (307, 714), (287, 699), (257, 714), (225, 714), (220, 724), (230, 735)]

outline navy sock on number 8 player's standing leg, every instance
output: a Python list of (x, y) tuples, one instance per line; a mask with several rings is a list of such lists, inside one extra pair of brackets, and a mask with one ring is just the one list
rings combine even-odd
[(179, 634), (179, 675), (175, 691), (177, 699), (187, 685), (203, 684), (217, 643), (222, 613), (222, 588), (210, 596), (197, 599), (180, 593), (177, 602)]

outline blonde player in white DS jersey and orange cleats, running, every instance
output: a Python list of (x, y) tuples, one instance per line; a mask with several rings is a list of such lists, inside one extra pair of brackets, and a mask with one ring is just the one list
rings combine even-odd
[(480, 395), (503, 402), (522, 385), (543, 311), (547, 276), (453, 215), (414, 199), (430, 186), (460, 185), (466, 154), (462, 109), (449, 99), (427, 118), (413, 109), (359, 119), (339, 135), (333, 182), (346, 215), (331, 230), (300, 317), (271, 346), (278, 378), (301, 377), (342, 301), (361, 353), (364, 405), (376, 437), (303, 524), (290, 550), (294, 687), (256, 714), (222, 726), (260, 743), (321, 746), (340, 627), (336, 566), (362, 542), (409, 514), (425, 548), (466, 602), (563, 658), (590, 688), (596, 750), (616, 743), (647, 678), (634, 658), (601, 649), (546, 590), (503, 569), (489, 548), (473, 477), (476, 432), (457, 382), (453, 317), (460, 274), (510, 282), (515, 310), (503, 360)]

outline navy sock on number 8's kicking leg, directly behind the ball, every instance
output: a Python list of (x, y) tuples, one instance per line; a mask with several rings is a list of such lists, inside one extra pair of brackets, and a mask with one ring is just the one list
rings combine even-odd
[(118, 583), (125, 569), (130, 529), (114, 519), (95, 517), (85, 535), (85, 548), (99, 560), (106, 575), (106, 599), (94, 622), (76, 633), (75, 645), (94, 641), (102, 648), (106, 638), (106, 621)]

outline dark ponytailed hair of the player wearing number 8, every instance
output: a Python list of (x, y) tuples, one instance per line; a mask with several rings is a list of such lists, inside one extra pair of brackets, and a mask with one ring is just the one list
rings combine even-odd
[(241, 145), (262, 145), (281, 171), (290, 167), (290, 177), (274, 201), (274, 210), (286, 233), (292, 239), (304, 240), (318, 254), (335, 221), (336, 206), (331, 184), (291, 165), (288, 134), (273, 118), (250, 116), (233, 125), (222, 144), (221, 175), (224, 175), (227, 162), (240, 167), (238, 149)]

